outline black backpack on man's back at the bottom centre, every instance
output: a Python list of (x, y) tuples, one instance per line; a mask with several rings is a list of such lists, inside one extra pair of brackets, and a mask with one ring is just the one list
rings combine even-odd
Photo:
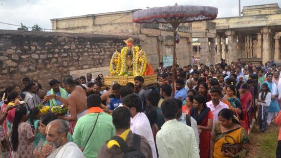
[(122, 151), (124, 152), (123, 158), (144, 158), (145, 156), (140, 152), (141, 137), (134, 133), (133, 148), (128, 147), (127, 143), (119, 136), (114, 136), (111, 140), (119, 143)]

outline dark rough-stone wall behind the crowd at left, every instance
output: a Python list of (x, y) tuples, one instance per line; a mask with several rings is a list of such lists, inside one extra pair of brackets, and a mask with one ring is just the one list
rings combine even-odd
[[(29, 77), (49, 89), (70, 71), (109, 66), (125, 36), (0, 30), (0, 89)], [(136, 46), (140, 40), (134, 37)], [(85, 74), (86, 75), (86, 74)]]

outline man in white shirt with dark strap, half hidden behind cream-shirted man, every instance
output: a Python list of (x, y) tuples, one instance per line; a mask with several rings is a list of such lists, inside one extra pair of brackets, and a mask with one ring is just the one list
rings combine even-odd
[[(200, 142), (200, 139), (199, 139), (199, 133), (198, 133), (198, 128), (197, 128), (197, 121), (194, 120), (192, 117), (188, 117), (186, 116), (186, 114), (184, 114), (182, 112), (182, 102), (179, 100), (179, 99), (174, 99), (176, 101), (176, 103), (178, 104), (178, 113), (177, 113), (177, 120), (178, 122), (181, 122), (183, 124), (186, 124), (188, 125), (188, 121), (190, 120), (190, 125), (188, 125), (189, 127), (191, 127), (193, 130), (194, 130), (194, 134), (195, 134), (195, 137), (196, 137), (196, 142), (197, 142), (197, 145), (199, 147), (199, 142)], [(189, 120), (186, 121), (186, 119), (190, 118)]]

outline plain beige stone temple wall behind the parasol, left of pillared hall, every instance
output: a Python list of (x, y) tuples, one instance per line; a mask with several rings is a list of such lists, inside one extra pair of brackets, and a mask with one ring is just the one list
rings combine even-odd
[[(55, 18), (51, 19), (52, 29), (54, 32), (90, 33), (138, 38), (140, 39), (140, 48), (143, 48), (146, 52), (148, 62), (156, 69), (159, 67), (158, 63), (160, 61), (172, 58), (174, 31), (168, 24), (134, 23), (133, 13), (135, 11), (138, 10)], [(181, 24), (178, 33), (180, 35), (180, 43), (176, 47), (177, 63), (187, 65), (191, 63), (191, 24)], [(125, 45), (125, 43), (123, 44)], [(170, 64), (170, 62), (166, 64)]]

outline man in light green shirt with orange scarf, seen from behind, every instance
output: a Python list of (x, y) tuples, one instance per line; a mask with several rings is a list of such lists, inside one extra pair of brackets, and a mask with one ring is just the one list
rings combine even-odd
[(112, 116), (99, 107), (101, 99), (98, 95), (90, 95), (87, 102), (89, 110), (78, 119), (73, 139), (74, 143), (82, 149), (85, 157), (97, 157), (104, 142), (115, 136), (115, 127)]

